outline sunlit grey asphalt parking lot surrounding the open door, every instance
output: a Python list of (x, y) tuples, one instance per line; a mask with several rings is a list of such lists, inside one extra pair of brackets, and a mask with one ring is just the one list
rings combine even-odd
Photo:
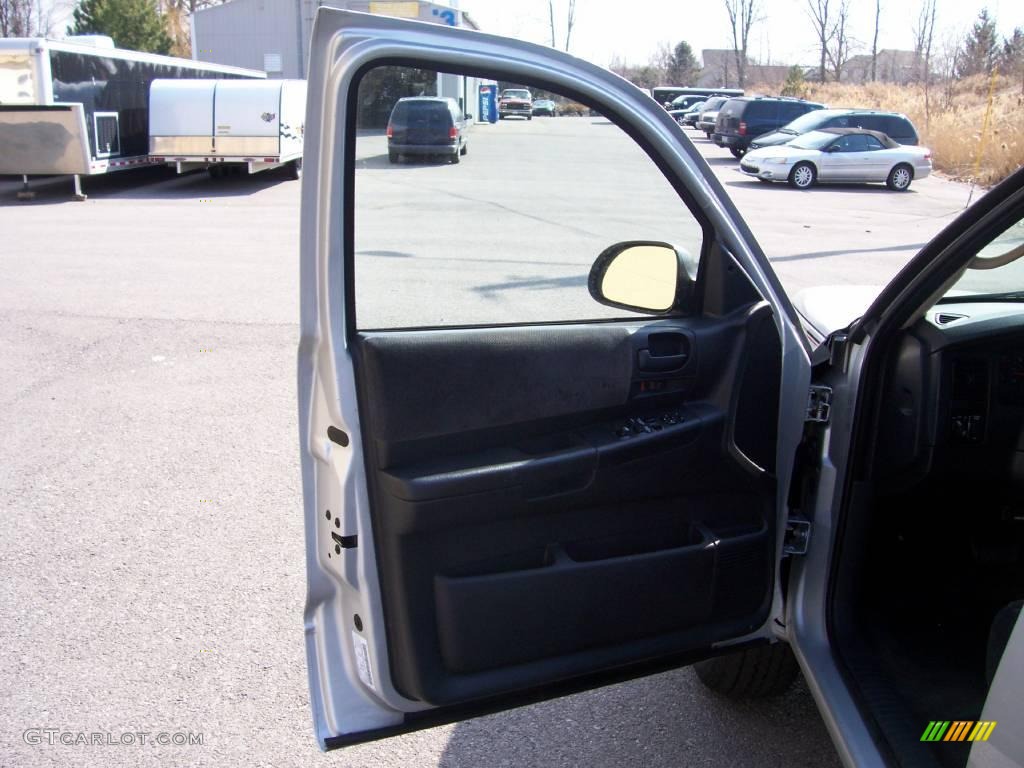
[[(540, 165), (554, 166), (565, 146), (586, 150), (581, 135), (606, 130), (593, 122), (480, 126), (458, 166), (374, 164), (370, 137), (361, 183), (395, 206), (414, 184), (507, 175), (518, 156), (488, 141), (526, 136)], [(769, 187), (736, 173), (726, 151), (697, 144), (791, 290), (883, 284), (969, 193), (934, 177), (904, 195)], [(90, 179), (81, 203), (67, 180), (40, 183), (30, 204), (13, 200), (16, 188), (0, 180), (0, 765), (838, 764), (802, 684), (737, 706), (689, 670), (319, 754), (302, 633), (299, 185), (154, 169)], [(548, 214), (522, 231), (561, 232), (564, 250), (565, 225), (579, 222)], [(373, 234), (379, 213), (367, 215)], [(551, 279), (536, 259), (490, 248), (487, 226), (449, 232), (453, 260), (417, 268), (520, 293)], [(479, 237), (486, 254), (463, 237)], [(579, 288), (591, 252), (558, 267), (561, 288)], [(501, 264), (497, 276), (487, 259)], [(367, 274), (386, 285), (399, 260), (379, 260), (388, 266)], [(389, 296), (380, 323), (388, 306), (416, 300), (410, 285)], [(203, 743), (29, 743), (26, 731), (41, 728), (115, 740), (201, 733)]]

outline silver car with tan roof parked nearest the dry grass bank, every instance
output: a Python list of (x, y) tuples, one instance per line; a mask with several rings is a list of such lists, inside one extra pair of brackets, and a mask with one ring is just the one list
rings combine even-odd
[(761, 181), (788, 181), (799, 189), (816, 182), (873, 181), (896, 191), (932, 172), (932, 153), (899, 144), (886, 134), (860, 128), (827, 128), (781, 146), (743, 156), (739, 170)]

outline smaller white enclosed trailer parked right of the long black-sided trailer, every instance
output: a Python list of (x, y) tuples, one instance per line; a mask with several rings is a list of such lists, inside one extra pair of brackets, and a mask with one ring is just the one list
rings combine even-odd
[(157, 80), (150, 89), (150, 157), (178, 173), (228, 166), (302, 170), (304, 80)]

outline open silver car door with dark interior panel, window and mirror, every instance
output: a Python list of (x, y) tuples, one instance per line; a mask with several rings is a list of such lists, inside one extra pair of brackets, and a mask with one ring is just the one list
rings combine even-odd
[[(589, 114), (465, 128), (496, 81)], [(321, 8), (305, 154), (322, 746), (770, 640), (810, 362), (665, 110), (549, 48)]]

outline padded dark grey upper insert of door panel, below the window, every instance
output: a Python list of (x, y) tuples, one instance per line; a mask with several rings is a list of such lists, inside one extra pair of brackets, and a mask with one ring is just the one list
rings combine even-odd
[(395, 441), (621, 406), (631, 352), (621, 326), (421, 331), (368, 337), (360, 364), (374, 436)]

